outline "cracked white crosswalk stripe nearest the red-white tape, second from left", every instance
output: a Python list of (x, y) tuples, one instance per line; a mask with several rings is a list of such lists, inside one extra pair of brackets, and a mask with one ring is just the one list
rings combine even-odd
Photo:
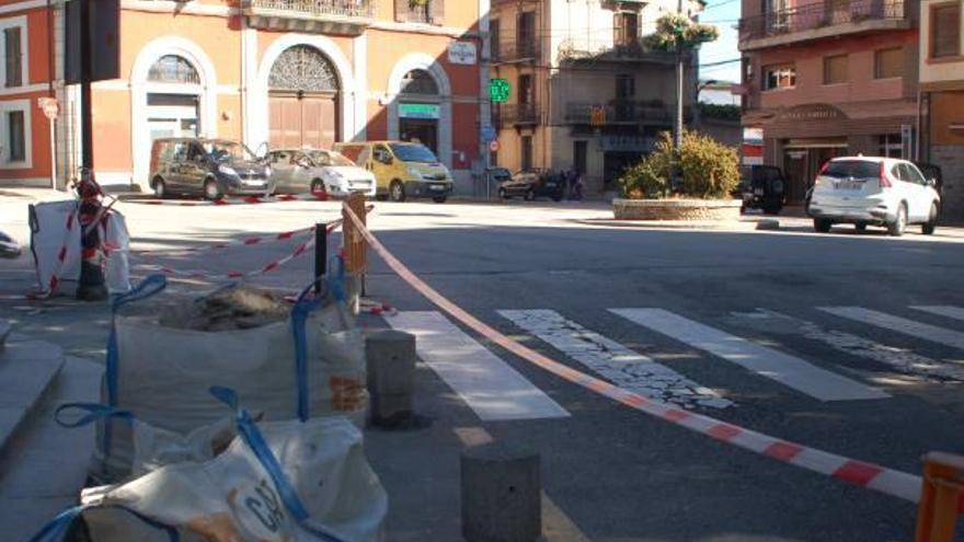
[(733, 402), (620, 343), (566, 320), (552, 310), (497, 311), (515, 325), (599, 373), (616, 385), (690, 408), (726, 408)]

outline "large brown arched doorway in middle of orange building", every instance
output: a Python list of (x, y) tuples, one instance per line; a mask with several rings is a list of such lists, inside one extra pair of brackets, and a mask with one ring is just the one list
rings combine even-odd
[(331, 148), (341, 134), (341, 84), (332, 62), (308, 45), (285, 49), (268, 74), (273, 149)]

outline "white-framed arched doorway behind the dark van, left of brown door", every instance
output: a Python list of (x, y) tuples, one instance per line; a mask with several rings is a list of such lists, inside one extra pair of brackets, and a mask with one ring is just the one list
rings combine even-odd
[(147, 124), (150, 140), (197, 137), (203, 92), (197, 69), (180, 55), (164, 55), (147, 74)]

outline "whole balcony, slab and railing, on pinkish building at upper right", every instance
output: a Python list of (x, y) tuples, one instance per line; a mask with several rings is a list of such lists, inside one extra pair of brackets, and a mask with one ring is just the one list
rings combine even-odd
[(739, 48), (909, 28), (905, 0), (825, 0), (739, 20)]

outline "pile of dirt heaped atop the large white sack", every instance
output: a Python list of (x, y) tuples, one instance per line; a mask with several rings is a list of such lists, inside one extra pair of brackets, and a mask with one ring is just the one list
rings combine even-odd
[(291, 312), (280, 293), (237, 286), (168, 308), (160, 323), (179, 330), (222, 332), (250, 330), (280, 322)]

